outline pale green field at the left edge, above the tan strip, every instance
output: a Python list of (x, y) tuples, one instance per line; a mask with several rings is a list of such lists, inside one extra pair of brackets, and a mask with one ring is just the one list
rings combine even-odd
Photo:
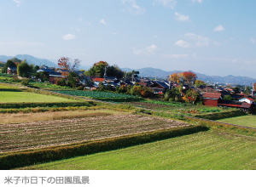
[(5, 92), (0, 91), (0, 103), (30, 103), (30, 102), (71, 102), (72, 99), (65, 99), (53, 95), (34, 94), (27, 92)]

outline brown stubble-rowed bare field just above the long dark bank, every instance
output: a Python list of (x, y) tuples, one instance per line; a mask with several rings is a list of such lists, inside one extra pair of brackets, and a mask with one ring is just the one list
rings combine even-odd
[(116, 115), (0, 125), (0, 152), (119, 137), (187, 123), (151, 116)]

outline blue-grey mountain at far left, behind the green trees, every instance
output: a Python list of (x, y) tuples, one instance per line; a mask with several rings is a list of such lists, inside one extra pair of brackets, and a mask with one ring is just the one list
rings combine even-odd
[(13, 59), (13, 58), (17, 58), (17, 59), (26, 59), (26, 61), (29, 64), (33, 64), (33, 65), (46, 65), (49, 67), (57, 67), (57, 65), (51, 61), (49, 61), (49, 59), (38, 59), (32, 55), (28, 55), (28, 54), (18, 54), (16, 56), (4, 56), (4, 55), (0, 55), (0, 61), (6, 62), (8, 59)]

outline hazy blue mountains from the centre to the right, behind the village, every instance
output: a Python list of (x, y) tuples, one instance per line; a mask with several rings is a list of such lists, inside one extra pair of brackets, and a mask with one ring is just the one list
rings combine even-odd
[[(121, 68), (122, 71), (132, 71), (131, 68)], [(145, 67), (142, 69), (135, 69), (134, 71), (139, 71), (140, 75), (142, 77), (156, 77), (156, 78), (166, 78), (169, 75), (172, 75), (172, 73), (175, 72), (182, 72), (182, 71), (163, 71), (156, 68), (151, 67)], [(226, 77), (220, 77), (220, 76), (207, 76), (201, 73), (196, 73), (197, 79), (201, 80), (203, 82), (210, 82), (210, 83), (224, 83), (224, 84), (240, 84), (240, 85), (248, 85), (252, 86), (253, 82), (256, 82), (256, 79), (253, 79), (251, 77), (240, 77), (240, 76), (226, 76)]]

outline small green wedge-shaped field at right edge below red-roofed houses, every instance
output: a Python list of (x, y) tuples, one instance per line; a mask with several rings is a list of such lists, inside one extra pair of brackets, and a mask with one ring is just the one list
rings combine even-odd
[(236, 117), (230, 117), (230, 118), (218, 120), (218, 122), (227, 122), (227, 123), (246, 126), (246, 127), (256, 127), (256, 116), (255, 115), (236, 116)]

